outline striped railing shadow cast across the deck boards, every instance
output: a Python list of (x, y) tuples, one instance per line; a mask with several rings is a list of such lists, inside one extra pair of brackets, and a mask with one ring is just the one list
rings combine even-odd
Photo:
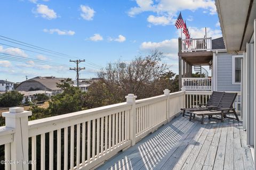
[(174, 152), (179, 141), (194, 126), (194, 122), (179, 116), (98, 169), (154, 169), (167, 159), (166, 155)]

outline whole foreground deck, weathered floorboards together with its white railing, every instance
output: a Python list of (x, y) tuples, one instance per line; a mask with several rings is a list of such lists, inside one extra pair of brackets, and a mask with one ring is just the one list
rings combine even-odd
[(180, 108), (206, 103), (211, 93), (166, 89), (140, 100), (129, 94), (125, 103), (34, 121), (31, 112), (11, 108), (0, 127), (1, 163), (32, 170), (253, 169), (242, 122), (180, 116)]

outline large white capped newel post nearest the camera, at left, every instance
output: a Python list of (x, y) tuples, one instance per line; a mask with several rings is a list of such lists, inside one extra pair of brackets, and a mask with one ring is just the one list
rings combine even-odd
[(24, 111), (22, 107), (13, 107), (9, 112), (3, 112), (5, 117), (5, 126), (7, 128), (14, 128), (13, 142), (10, 143), (11, 169), (28, 169), (28, 116), (32, 112)]

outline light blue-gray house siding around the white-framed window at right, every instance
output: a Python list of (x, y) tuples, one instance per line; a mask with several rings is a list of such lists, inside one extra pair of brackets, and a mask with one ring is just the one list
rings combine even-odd
[(232, 55), (218, 53), (217, 57), (217, 90), (241, 91), (240, 84), (232, 84)]

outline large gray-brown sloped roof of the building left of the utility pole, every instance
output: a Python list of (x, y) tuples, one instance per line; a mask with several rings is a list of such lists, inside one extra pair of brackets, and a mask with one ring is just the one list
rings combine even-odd
[(35, 91), (46, 90), (53, 92), (53, 95), (61, 93), (61, 89), (57, 87), (57, 83), (63, 80), (55, 77), (35, 77), (21, 82), (15, 90), (18, 91)]

